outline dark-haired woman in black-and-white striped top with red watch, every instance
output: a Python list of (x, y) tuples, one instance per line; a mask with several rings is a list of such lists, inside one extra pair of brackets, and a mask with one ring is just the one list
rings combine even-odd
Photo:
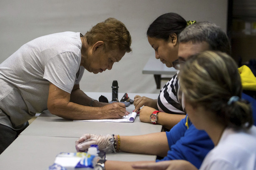
[[(166, 67), (174, 67), (173, 62), (178, 59), (179, 34), (188, 26), (196, 23), (196, 21), (186, 21), (179, 14), (169, 12), (157, 17), (147, 30), (147, 38), (150, 46), (155, 51), (156, 59), (159, 59)], [(177, 74), (167, 82), (176, 82)], [(142, 122), (151, 123), (149, 119), (153, 111), (159, 111), (157, 113), (158, 119), (154, 124), (161, 124), (169, 131), (174, 125), (176, 125), (181, 119), (185, 118), (186, 113), (182, 108), (179, 101), (176, 99), (178, 84), (173, 85), (171, 89), (168, 86), (164, 86), (158, 99), (150, 99), (145, 96), (134, 97), (134, 111), (139, 111), (142, 106), (146, 106), (140, 110), (140, 120)], [(175, 92), (174, 92), (175, 91)], [(161, 96), (161, 97), (160, 97)], [(165, 97), (163, 97), (165, 96)]]

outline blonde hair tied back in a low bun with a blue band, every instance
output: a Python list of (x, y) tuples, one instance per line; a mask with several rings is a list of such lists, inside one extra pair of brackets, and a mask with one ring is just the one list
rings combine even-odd
[(252, 109), (247, 101), (228, 104), (232, 96), (241, 98), (242, 86), (236, 63), (226, 53), (205, 51), (192, 56), (181, 70), (180, 84), (186, 102), (216, 113), (225, 126), (252, 126)]

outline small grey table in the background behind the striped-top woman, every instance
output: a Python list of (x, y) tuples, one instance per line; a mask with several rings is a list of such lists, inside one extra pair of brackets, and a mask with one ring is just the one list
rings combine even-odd
[[(173, 67), (166, 67), (165, 64), (160, 62), (159, 60), (151, 57), (147, 61), (146, 65), (142, 70), (142, 74), (154, 74), (154, 79), (157, 84), (157, 89), (160, 89), (161, 80), (169, 80), (174, 74), (176, 74), (177, 70)], [(162, 77), (162, 74), (167, 74), (168, 77)]]

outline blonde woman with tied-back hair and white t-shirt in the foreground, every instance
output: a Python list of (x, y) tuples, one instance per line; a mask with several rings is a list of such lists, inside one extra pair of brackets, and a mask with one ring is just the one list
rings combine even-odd
[[(215, 147), (200, 170), (256, 170), (256, 127), (251, 105), (241, 99), (236, 63), (225, 53), (205, 51), (186, 61), (180, 73), (189, 119)], [(134, 168), (196, 170), (185, 160), (134, 165)]]

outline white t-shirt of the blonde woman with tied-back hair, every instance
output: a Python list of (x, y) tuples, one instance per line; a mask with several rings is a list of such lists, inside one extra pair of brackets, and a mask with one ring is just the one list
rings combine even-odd
[(200, 170), (256, 170), (256, 127), (240, 131), (226, 128)]

